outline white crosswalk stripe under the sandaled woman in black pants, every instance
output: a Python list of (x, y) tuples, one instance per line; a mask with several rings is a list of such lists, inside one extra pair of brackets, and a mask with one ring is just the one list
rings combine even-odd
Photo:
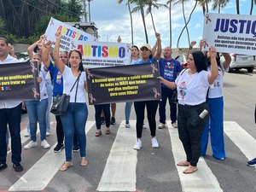
[[(171, 137), (172, 154), (175, 164), (186, 159), (183, 145), (178, 138), (177, 129), (172, 127), (171, 121), (167, 121), (168, 131)], [(211, 169), (207, 166), (203, 158), (199, 159), (198, 171), (193, 174), (183, 174), (183, 166), (177, 166), (177, 172), (180, 178), (183, 192), (221, 192), (223, 191), (217, 178), (213, 175)]]

